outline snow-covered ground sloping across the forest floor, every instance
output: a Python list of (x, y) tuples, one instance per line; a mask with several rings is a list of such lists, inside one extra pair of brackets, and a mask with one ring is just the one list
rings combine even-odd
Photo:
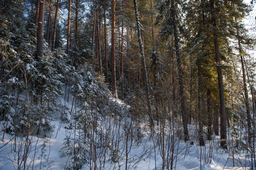
[[(116, 102), (123, 111), (128, 111), (131, 108), (121, 100), (111, 100)], [(71, 102), (66, 103), (66, 105), (69, 109), (71, 108)], [(70, 119), (70, 116), (67, 117)], [(102, 131), (106, 132), (106, 129), (110, 127), (109, 129), (113, 132), (110, 134), (113, 141), (109, 142), (108, 147), (111, 147), (112, 150), (118, 150), (118, 153), (113, 156), (113, 153), (106, 152), (104, 167), (102, 161), (104, 155), (101, 155), (98, 156), (96, 163), (93, 160), (87, 160), (87, 164), (84, 164), (81, 170), (90, 170), (90, 166), (93, 167), (95, 164), (96, 169), (99, 170), (125, 170), (127, 151), (127, 169), (134, 170), (160, 170), (163, 164), (163, 153), (165, 153), (164, 160), (166, 164), (169, 162), (169, 167), (165, 166), (165, 169), (171, 169), (170, 162), (172, 162), (172, 169), (176, 170), (249, 170), (251, 167), (246, 150), (239, 150), (239, 152), (234, 153), (235, 167), (233, 167), (233, 154), (218, 146), (219, 136), (216, 136), (212, 141), (205, 141), (206, 146), (201, 147), (197, 145), (197, 142), (190, 144), (190, 142), (180, 141), (176, 130), (169, 131), (166, 128), (164, 134), (166, 141), (165, 144), (161, 145), (159, 140), (160, 127), (156, 127), (156, 133), (151, 137), (148, 126), (143, 124), (142, 120), (140, 124), (131, 124), (132, 116), (99, 117), (98, 125)], [(0, 141), (0, 170), (15, 170), (18, 167), (22, 167), (20, 169), (24, 170), (65, 169), (70, 158), (64, 157), (63, 144), (67, 136), (72, 137), (76, 134), (74, 134), (74, 130), (65, 128), (67, 125), (61, 121), (58, 113), (50, 124), (54, 127), (54, 130), (45, 138), (29, 136), (30, 140), (26, 140), (25, 136), (15, 139), (14, 136), (5, 134), (4, 140)], [(137, 125), (140, 125), (140, 127)], [(172, 127), (172, 124), (170, 126)], [(127, 131), (129, 127), (131, 127), (130, 133), (137, 133), (132, 140), (130, 134), (125, 133), (125, 129)], [(195, 127), (189, 126), (190, 131), (193, 128)], [(128, 139), (127, 143), (126, 137)], [(3, 131), (0, 132), (0, 138), (3, 138)], [(29, 141), (29, 144), (26, 144), (26, 141)], [(29, 146), (26, 156), (24, 156), (23, 150), (18, 150), (19, 148), (24, 149), (25, 145)], [(26, 161), (26, 167), (23, 167), (24, 161)], [(21, 166), (18, 166), (18, 164)]]

